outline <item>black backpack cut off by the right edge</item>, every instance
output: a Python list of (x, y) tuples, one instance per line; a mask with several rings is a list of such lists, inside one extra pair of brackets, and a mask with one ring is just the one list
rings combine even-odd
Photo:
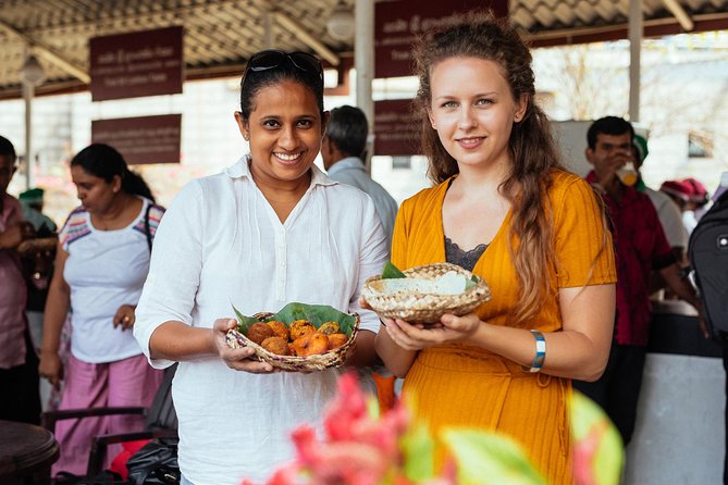
[(693, 229), (688, 257), (712, 334), (728, 334), (728, 191)]

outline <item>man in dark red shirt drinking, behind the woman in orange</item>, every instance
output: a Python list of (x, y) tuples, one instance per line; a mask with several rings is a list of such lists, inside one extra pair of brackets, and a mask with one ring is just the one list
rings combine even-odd
[(652, 319), (649, 282), (657, 271), (667, 286), (698, 309), (704, 331), (702, 308), (693, 287), (682, 278), (680, 266), (650, 198), (625, 185), (617, 171), (631, 161), (634, 129), (629, 122), (606, 116), (587, 133), (587, 159), (593, 170), (587, 175), (603, 196), (612, 220), (617, 260), (617, 316), (607, 368), (594, 383), (576, 382), (575, 387), (599, 403), (629, 444), (637, 416), (642, 371)]

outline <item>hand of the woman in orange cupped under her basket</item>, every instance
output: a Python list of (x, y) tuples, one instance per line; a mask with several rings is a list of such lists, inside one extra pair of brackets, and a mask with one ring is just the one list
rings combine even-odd
[(443, 315), (440, 323), (429, 326), (411, 324), (404, 320), (382, 319), (386, 333), (405, 350), (421, 350), (452, 344), (471, 337), (482, 323), (477, 314), (464, 316)]

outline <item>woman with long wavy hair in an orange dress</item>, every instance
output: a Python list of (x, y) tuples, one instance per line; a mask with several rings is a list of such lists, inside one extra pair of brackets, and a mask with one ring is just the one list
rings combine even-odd
[[(416, 58), (436, 185), (402, 204), (392, 260), (460, 264), (493, 298), (427, 328), (383, 318), (377, 349), (435, 434), (503, 433), (548, 483), (571, 483), (570, 380), (602, 374), (614, 323), (603, 207), (560, 165), (534, 103), (531, 54), (513, 28), (471, 13), (424, 37)], [(443, 457), (440, 447), (439, 467)]]

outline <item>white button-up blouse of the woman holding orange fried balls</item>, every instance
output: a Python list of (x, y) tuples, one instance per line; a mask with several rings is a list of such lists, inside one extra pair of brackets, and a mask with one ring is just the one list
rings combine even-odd
[[(247, 158), (183, 188), (157, 232), (136, 310), (134, 335), (147, 357), (163, 322), (211, 327), (234, 315), (233, 304), (246, 315), (292, 301), (329, 304), (358, 312), (360, 328), (379, 329), (378, 316), (357, 303), (365, 281), (388, 259), (374, 204), (316, 166), (312, 173), (285, 223), (254, 183)], [(195, 485), (263, 482), (292, 459), (291, 431), (320, 422), (340, 372), (260, 375), (217, 357), (181, 362), (173, 399), (182, 473)]]

